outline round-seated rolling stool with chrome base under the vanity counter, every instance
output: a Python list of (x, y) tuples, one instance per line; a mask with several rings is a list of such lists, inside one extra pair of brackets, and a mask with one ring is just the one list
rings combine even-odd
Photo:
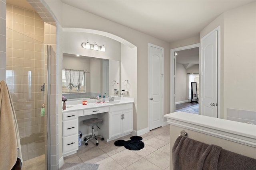
[[(86, 137), (84, 138), (84, 141), (85, 141), (85, 145), (86, 145), (86, 146), (88, 145), (87, 142), (88, 142), (90, 139), (95, 139), (95, 140), (96, 140), (96, 146), (99, 145), (98, 140), (97, 140), (96, 137), (101, 137), (101, 140), (102, 140), (102, 141), (104, 140), (104, 138), (103, 138), (102, 136), (100, 136), (100, 135), (95, 135), (95, 134), (94, 134), (94, 127), (93, 127), (94, 125), (96, 125), (96, 126), (98, 127), (98, 123), (101, 123), (102, 121), (103, 121), (102, 119), (98, 119), (98, 118), (91, 118), (91, 119), (86, 119), (86, 120), (83, 121), (84, 125), (92, 126), (92, 135), (86, 136)], [(98, 128), (100, 129), (100, 127), (98, 127)], [(88, 137), (89, 137), (89, 138), (88, 138)]]

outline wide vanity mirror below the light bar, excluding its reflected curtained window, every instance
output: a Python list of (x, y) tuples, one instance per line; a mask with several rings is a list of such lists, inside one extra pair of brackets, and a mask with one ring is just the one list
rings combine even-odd
[(63, 53), (62, 68), (85, 72), (85, 92), (63, 93), (67, 99), (119, 96), (120, 61)]

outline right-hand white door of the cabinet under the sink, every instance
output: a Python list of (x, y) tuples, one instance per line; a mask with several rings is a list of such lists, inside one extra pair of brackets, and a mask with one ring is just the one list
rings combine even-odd
[(123, 114), (123, 133), (128, 133), (133, 131), (133, 110), (122, 111)]

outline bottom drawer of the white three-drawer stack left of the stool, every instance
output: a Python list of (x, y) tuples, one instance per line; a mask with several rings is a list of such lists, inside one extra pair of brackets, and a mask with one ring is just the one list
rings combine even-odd
[(78, 150), (78, 134), (63, 138), (63, 153)]

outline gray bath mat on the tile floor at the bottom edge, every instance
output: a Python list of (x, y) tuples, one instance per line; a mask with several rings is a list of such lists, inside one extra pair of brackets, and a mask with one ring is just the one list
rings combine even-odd
[(98, 170), (100, 164), (64, 163), (59, 170)]

